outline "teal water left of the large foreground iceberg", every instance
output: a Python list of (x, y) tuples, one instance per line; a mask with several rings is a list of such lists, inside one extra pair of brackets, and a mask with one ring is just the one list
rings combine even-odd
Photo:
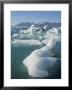
[(11, 48), (11, 78), (30, 78), (27, 68), (22, 63), (23, 60), (35, 49), (40, 46), (22, 46)]

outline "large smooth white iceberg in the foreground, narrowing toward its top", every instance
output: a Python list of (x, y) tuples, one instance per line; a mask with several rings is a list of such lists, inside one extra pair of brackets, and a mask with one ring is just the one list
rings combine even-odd
[(28, 74), (32, 77), (48, 77), (48, 68), (52, 67), (58, 60), (52, 55), (52, 49), (57, 42), (57, 30), (54, 29), (48, 33), (48, 43), (40, 49), (34, 50), (27, 58), (23, 60), (23, 64), (28, 69)]

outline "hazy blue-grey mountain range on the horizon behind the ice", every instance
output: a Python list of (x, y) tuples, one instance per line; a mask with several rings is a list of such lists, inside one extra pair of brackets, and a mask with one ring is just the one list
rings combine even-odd
[(35, 25), (36, 27), (40, 27), (42, 29), (47, 28), (51, 28), (51, 27), (60, 27), (61, 23), (50, 23), (50, 22), (41, 22), (41, 23), (30, 23), (30, 22), (26, 22), (26, 23), (19, 23), (15, 26), (12, 26), (12, 29), (28, 29), (31, 25)]

